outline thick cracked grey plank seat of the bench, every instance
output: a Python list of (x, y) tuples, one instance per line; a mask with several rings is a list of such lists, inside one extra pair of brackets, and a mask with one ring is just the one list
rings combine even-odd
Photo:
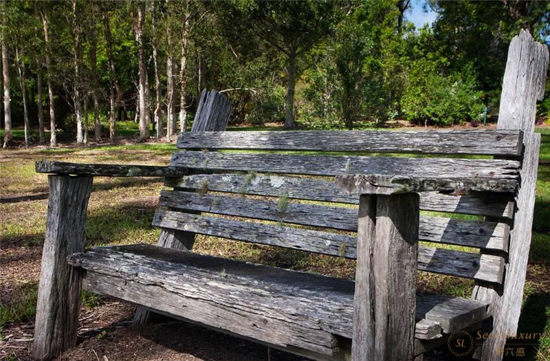
[[(91, 291), (283, 347), (332, 354), (333, 335), (352, 335), (352, 281), (153, 245), (94, 248), (68, 261), (97, 275), (87, 280)], [(485, 303), (417, 296), (417, 320), (438, 322), (445, 333), (487, 316)]]

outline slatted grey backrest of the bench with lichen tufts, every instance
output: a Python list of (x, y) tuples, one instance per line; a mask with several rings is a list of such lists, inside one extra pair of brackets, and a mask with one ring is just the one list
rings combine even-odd
[[(422, 215), (420, 239), (429, 244), (422, 243), (420, 247), (418, 267), (501, 283), (521, 142), (520, 131), (184, 133), (178, 147), (186, 151), (174, 153), (172, 164), (186, 166), (193, 174), (166, 181), (175, 190), (162, 192), (160, 204), (168, 210), (158, 211), (153, 223), (163, 228), (354, 259), (359, 197), (336, 188), (335, 175), (364, 172), (487, 177), (501, 187), (498, 192), (421, 195), (423, 210), (480, 217), (464, 220)], [(255, 153), (223, 152), (235, 149)], [(281, 151), (308, 154), (272, 153)], [(365, 152), (498, 155), (517, 160), (353, 154)], [(200, 212), (202, 215), (197, 214)], [(485, 221), (483, 216), (493, 220)], [(439, 248), (443, 243), (494, 250), (498, 255)]]

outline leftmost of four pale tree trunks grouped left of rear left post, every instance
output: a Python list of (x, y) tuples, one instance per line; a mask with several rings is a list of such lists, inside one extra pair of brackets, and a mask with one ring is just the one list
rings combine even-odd
[(143, 44), (143, 27), (144, 27), (144, 12), (145, 3), (137, 3), (137, 19), (135, 21), (135, 43), (137, 44), (137, 63), (139, 71), (139, 109), (140, 109), (140, 139), (144, 140), (149, 136), (149, 129), (146, 122), (146, 68), (145, 68), (145, 54)]

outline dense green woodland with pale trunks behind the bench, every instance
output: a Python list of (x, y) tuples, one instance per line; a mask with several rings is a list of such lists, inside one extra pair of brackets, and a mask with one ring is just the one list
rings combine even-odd
[(476, 122), (498, 113), (512, 36), (550, 43), (547, 1), (2, 1), (0, 18), (4, 146), (12, 128), (55, 146), (123, 121), (170, 141), (204, 88), (232, 124)]

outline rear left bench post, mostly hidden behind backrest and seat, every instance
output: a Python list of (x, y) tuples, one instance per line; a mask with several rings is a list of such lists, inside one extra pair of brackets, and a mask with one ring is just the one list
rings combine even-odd
[[(203, 89), (191, 131), (225, 131), (231, 115), (231, 104), (227, 97), (215, 90)], [(181, 136), (181, 134), (180, 134)], [(173, 250), (191, 250), (195, 244), (195, 233), (184, 230), (162, 230), (157, 245)], [(151, 311), (139, 306), (135, 309), (133, 323), (142, 325), (151, 319)]]

